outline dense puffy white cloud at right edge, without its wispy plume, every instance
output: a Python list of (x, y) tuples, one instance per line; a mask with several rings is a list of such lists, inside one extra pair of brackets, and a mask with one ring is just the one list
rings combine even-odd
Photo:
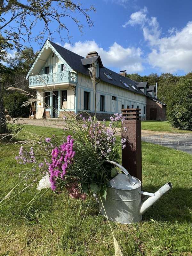
[(192, 71), (192, 22), (171, 36), (159, 38), (148, 55), (153, 67), (163, 72)]

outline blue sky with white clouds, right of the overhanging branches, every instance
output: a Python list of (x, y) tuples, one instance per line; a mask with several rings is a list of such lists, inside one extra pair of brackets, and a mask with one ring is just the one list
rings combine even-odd
[[(61, 42), (57, 34), (55, 43), (82, 56), (96, 50), (103, 64), (115, 71), (126, 69), (128, 73), (141, 75), (151, 72), (183, 75), (192, 71), (192, 1), (81, 2), (84, 6), (95, 6), (97, 12), (90, 13), (94, 26), (89, 29), (81, 16), (85, 25), (82, 35), (68, 20), (72, 44)], [(32, 46), (39, 50), (37, 44)]]

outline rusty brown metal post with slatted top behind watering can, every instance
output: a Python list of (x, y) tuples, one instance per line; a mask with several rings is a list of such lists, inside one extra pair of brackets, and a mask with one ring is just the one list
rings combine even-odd
[(122, 149), (122, 166), (142, 182), (140, 110), (140, 108), (122, 109), (125, 121), (122, 124), (121, 138), (126, 139), (126, 147)]

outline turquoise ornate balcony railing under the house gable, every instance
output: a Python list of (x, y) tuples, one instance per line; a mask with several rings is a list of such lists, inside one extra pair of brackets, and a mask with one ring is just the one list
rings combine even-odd
[(70, 71), (29, 76), (29, 87), (49, 84), (76, 83), (77, 74)]

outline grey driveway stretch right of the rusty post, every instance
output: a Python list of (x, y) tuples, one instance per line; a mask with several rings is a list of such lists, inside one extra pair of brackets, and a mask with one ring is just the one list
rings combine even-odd
[(192, 154), (192, 133), (152, 132), (142, 130), (142, 140)]

